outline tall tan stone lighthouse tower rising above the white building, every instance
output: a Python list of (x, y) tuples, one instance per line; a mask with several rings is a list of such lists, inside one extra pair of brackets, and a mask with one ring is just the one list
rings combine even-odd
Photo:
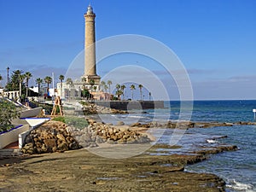
[(89, 5), (84, 14), (84, 77), (87, 83), (91, 79), (99, 84), (101, 77), (96, 74), (96, 38), (95, 38), (95, 17), (92, 7)]

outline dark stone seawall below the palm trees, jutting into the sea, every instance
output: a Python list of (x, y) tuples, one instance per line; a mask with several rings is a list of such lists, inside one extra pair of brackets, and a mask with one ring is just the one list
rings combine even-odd
[(119, 110), (164, 108), (164, 101), (96, 101), (99, 106)]

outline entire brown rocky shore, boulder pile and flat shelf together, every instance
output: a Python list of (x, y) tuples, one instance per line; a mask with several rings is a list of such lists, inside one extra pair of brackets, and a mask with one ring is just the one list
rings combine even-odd
[[(87, 120), (89, 126), (84, 129), (49, 121), (32, 131), (22, 148), (30, 155), (9, 161), (0, 159), (0, 190), (224, 191), (222, 178), (208, 173), (184, 172), (184, 166), (207, 160), (209, 154), (236, 150), (236, 146), (201, 148), (190, 154), (152, 155), (160, 148), (179, 146), (151, 146), (152, 137), (144, 132), (152, 127), (188, 129), (223, 124), (168, 121), (165, 124), (124, 125), (119, 122), (119, 125), (106, 125), (95, 119)], [(131, 150), (145, 146), (148, 150), (125, 159), (109, 159), (93, 153), (102, 143), (117, 153), (123, 151), (124, 146), (130, 146)], [(108, 152), (108, 147), (101, 150)]]

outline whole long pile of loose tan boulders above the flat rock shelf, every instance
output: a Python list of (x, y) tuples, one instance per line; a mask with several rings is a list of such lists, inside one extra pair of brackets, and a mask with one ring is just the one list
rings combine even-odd
[(87, 119), (89, 125), (83, 129), (67, 126), (58, 121), (49, 121), (32, 130), (26, 136), (25, 146), (22, 152), (25, 154), (42, 154), (62, 152), (70, 149), (93, 148), (99, 143), (131, 144), (149, 143), (151, 140), (147, 134), (124, 127), (123, 122), (119, 126), (106, 125)]

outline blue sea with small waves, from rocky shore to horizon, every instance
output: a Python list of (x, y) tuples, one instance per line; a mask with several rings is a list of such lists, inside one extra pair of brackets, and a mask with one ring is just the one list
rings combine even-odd
[[(256, 101), (194, 101), (165, 102), (166, 108), (135, 110), (129, 114), (115, 114), (113, 118), (123, 120), (125, 124), (151, 121), (191, 121), (237, 123), (253, 122), (253, 108)], [(181, 110), (181, 106), (183, 106)], [(186, 107), (187, 106), (187, 107)], [(102, 116), (104, 119), (104, 116)], [(113, 119), (104, 119), (113, 122)], [(107, 122), (108, 123), (108, 122)], [(182, 148), (160, 149), (159, 154), (187, 154), (198, 148), (211, 148), (216, 145), (236, 145), (236, 151), (211, 154), (208, 160), (185, 167), (186, 172), (209, 172), (222, 177), (227, 192), (256, 191), (256, 125), (218, 126), (212, 128), (191, 128), (187, 131), (172, 129), (152, 130), (159, 136), (158, 143), (175, 144)], [(175, 137), (178, 136), (178, 137)], [(207, 141), (213, 141), (208, 143)], [(164, 152), (164, 153), (163, 153)]]

